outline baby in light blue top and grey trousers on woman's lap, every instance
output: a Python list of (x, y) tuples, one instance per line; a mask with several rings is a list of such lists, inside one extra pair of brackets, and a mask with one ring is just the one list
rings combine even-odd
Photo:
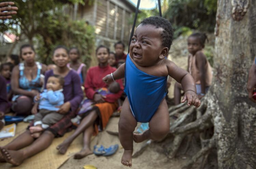
[[(35, 104), (32, 108), (32, 114), (35, 114), (34, 126), (29, 128), (32, 137), (38, 138), (43, 130), (64, 116), (58, 113), (58, 106), (64, 103), (63, 85), (64, 79), (59, 75), (53, 75), (48, 78), (46, 89), (34, 97)], [(37, 112), (38, 106), (39, 112)]]

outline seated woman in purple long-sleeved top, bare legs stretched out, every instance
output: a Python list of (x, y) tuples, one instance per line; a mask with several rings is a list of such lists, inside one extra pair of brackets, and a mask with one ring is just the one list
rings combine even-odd
[[(45, 82), (53, 74), (64, 78), (63, 86), (64, 104), (58, 110), (58, 113), (65, 116), (54, 125), (45, 129), (39, 138), (34, 139), (29, 130), (19, 135), (8, 145), (1, 147), (0, 160), (5, 160), (15, 166), (23, 161), (49, 147), (56, 136), (63, 136), (72, 125), (70, 119), (75, 117), (77, 108), (83, 99), (83, 91), (80, 87), (79, 75), (67, 67), (69, 62), (68, 50), (59, 46), (55, 48), (53, 61), (56, 64), (54, 70), (49, 70), (45, 74)], [(33, 124), (30, 124), (32, 126)]]

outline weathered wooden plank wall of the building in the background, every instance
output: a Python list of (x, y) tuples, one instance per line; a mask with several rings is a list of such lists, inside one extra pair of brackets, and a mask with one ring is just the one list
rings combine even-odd
[[(76, 18), (95, 26), (96, 45), (104, 44), (113, 50), (114, 42), (122, 40), (128, 46), (131, 31), (129, 21), (135, 7), (126, 5), (124, 0), (95, 0), (95, 3), (79, 5)], [(69, 9), (69, 13), (72, 10)]]

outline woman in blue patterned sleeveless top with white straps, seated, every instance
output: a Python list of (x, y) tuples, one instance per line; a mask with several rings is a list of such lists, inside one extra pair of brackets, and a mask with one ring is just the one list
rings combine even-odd
[(33, 98), (42, 89), (41, 77), (47, 67), (35, 62), (35, 50), (31, 45), (20, 47), (20, 57), (24, 62), (13, 68), (11, 77), (11, 88), (16, 95), (12, 98), (12, 109), (16, 115), (29, 115), (33, 106)]

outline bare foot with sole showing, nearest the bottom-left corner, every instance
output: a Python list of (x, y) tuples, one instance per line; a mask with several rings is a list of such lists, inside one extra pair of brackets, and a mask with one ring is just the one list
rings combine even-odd
[(0, 147), (0, 150), (3, 155), (3, 158), (7, 163), (10, 163), (14, 166), (19, 166), (20, 164), (23, 163), (24, 155), (19, 151), (6, 150), (1, 147)]

